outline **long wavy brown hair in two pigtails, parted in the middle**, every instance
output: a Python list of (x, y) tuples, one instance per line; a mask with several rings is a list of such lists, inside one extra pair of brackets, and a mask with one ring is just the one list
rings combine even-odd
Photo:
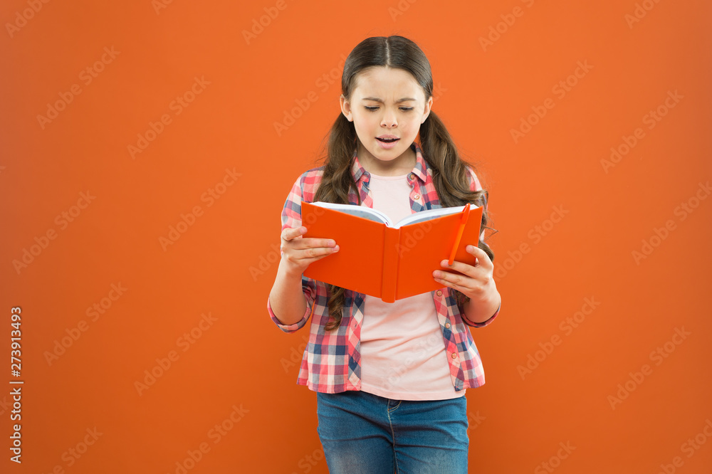
[[(375, 66), (407, 70), (422, 86), (426, 102), (433, 94), (430, 63), (416, 43), (403, 36), (374, 36), (361, 41), (346, 58), (341, 89), (347, 100), (351, 99), (357, 75), (363, 69)], [(352, 157), (358, 143), (353, 122), (339, 113), (328, 136), (328, 150), (323, 157), (324, 172), (314, 201), (349, 204), (349, 191), (353, 189), (360, 205), (360, 193), (351, 174)], [(485, 189), (470, 191), (466, 169), (468, 164), (461, 159), (444, 123), (432, 110), (425, 122), (420, 125), (419, 137), (423, 158), (432, 167), (434, 186), (441, 206), (464, 206), (466, 203), (483, 206), (481, 225), (483, 229), (490, 228), (487, 226), (488, 192)], [(494, 260), (494, 253), (486, 243), (480, 240), (478, 247)], [(327, 286), (331, 320), (325, 326), (325, 330), (333, 330), (341, 324), (345, 289), (336, 285)], [(452, 291), (459, 305), (463, 305), (469, 299), (459, 291)]]

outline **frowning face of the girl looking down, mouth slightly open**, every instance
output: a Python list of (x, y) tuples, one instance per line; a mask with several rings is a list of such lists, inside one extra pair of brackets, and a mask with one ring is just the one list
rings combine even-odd
[(433, 105), (415, 78), (399, 68), (368, 68), (359, 73), (351, 100), (344, 95), (340, 100), (361, 142), (357, 152), (363, 167), (376, 174), (410, 171), (414, 154), (409, 147)]

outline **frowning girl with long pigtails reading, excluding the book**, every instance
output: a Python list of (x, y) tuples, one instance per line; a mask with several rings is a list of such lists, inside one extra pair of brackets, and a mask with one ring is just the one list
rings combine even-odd
[(466, 473), (465, 389), (485, 381), (467, 326), (490, 324), (501, 307), (484, 231), (467, 246), (475, 266), (443, 260), (433, 269), (443, 288), (386, 303), (302, 275), (339, 246), (303, 238), (300, 203), (368, 206), (396, 222), (469, 202), (484, 207), (484, 229), (488, 193), (431, 111), (430, 64), (414, 42), (365, 39), (347, 57), (341, 86), (325, 164), (304, 172), (284, 204), (267, 310), (284, 332), (311, 316), (297, 383), (317, 392), (331, 473)]

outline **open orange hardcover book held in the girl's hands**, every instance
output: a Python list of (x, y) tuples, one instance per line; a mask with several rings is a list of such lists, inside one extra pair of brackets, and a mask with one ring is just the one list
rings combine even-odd
[[(465, 206), (431, 209), (392, 223), (376, 209), (350, 204), (302, 201), (304, 238), (332, 238), (339, 251), (310, 263), (303, 275), (384, 302), (444, 288), (434, 270), (450, 256)], [(467, 245), (480, 236), (482, 207), (469, 207), (455, 261), (475, 264)]]

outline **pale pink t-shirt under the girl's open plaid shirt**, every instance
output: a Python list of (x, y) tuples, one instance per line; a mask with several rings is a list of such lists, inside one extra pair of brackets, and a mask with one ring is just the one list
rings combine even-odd
[[(393, 222), (412, 214), (406, 177), (371, 174), (373, 207)], [(365, 296), (361, 390), (395, 400), (454, 399), (443, 334), (431, 293), (383, 302)]]

